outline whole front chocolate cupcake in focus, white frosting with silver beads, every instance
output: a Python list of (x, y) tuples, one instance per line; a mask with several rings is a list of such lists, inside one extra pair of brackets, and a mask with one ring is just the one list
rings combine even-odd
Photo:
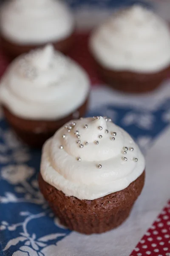
[(39, 185), (62, 224), (102, 233), (130, 214), (144, 186), (144, 169), (130, 135), (97, 116), (67, 123), (45, 143)]

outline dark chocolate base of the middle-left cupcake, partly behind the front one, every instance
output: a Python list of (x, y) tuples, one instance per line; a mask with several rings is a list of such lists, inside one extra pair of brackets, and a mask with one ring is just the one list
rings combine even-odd
[(31, 147), (39, 148), (66, 122), (84, 116), (87, 107), (88, 99), (76, 111), (58, 120), (23, 119), (11, 113), (5, 106), (3, 112), (18, 138)]

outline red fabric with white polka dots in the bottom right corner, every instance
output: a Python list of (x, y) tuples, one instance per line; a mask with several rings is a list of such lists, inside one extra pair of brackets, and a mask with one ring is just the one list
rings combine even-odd
[(170, 256), (170, 201), (130, 256)]

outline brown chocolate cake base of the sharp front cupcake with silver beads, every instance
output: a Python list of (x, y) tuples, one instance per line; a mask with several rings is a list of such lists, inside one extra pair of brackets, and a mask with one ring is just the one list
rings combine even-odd
[(61, 223), (80, 233), (103, 233), (122, 224), (144, 186), (145, 172), (130, 185), (94, 200), (80, 200), (65, 196), (39, 175), (40, 191)]

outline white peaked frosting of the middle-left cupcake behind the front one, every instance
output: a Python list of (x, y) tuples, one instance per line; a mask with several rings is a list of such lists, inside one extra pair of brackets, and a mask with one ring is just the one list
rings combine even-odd
[(73, 60), (51, 45), (16, 58), (0, 82), (0, 101), (26, 119), (60, 119), (79, 108), (89, 79)]

